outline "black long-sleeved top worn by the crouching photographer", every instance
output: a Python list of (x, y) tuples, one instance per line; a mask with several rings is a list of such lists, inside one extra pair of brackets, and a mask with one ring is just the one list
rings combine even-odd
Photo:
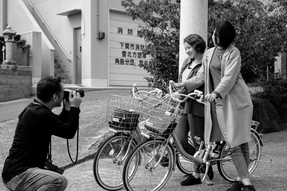
[(44, 169), (51, 136), (72, 139), (79, 125), (80, 109), (63, 108), (59, 115), (33, 100), (20, 113), (12, 147), (6, 158), (2, 177), (6, 182), (28, 168)]

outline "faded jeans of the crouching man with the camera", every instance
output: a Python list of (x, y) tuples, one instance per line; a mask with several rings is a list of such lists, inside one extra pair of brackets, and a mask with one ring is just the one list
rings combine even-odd
[(8, 182), (3, 178), (2, 181), (9, 191), (63, 191), (68, 185), (65, 176), (38, 167), (29, 168)]

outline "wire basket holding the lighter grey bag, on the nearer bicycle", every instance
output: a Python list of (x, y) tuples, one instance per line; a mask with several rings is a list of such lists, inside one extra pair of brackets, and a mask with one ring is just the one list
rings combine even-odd
[(139, 121), (146, 133), (168, 137), (179, 122), (183, 108), (178, 103), (166, 102), (152, 97), (142, 101)]

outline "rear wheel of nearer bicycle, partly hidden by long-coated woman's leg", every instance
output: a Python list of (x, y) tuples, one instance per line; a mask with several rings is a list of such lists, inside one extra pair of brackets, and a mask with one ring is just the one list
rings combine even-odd
[[(259, 139), (253, 132), (251, 132), (251, 141), (248, 144), (249, 144), (249, 167), (248, 169), (249, 169), (249, 174), (251, 175), (254, 172), (259, 162), (259, 161), (254, 161), (254, 160), (260, 160), (260, 155), (261, 155), (261, 145), (260, 145)], [(217, 162), (217, 168), (218, 168), (220, 175), (229, 182), (236, 180), (238, 177), (238, 174), (232, 162), (226, 143), (224, 143), (218, 158), (226, 158), (226, 160), (224, 161)]]

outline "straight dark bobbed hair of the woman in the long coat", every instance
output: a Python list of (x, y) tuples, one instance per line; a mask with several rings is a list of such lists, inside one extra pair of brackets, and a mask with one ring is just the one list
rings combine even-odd
[(215, 42), (224, 48), (228, 47), (235, 38), (235, 30), (229, 21), (221, 21), (215, 26)]

